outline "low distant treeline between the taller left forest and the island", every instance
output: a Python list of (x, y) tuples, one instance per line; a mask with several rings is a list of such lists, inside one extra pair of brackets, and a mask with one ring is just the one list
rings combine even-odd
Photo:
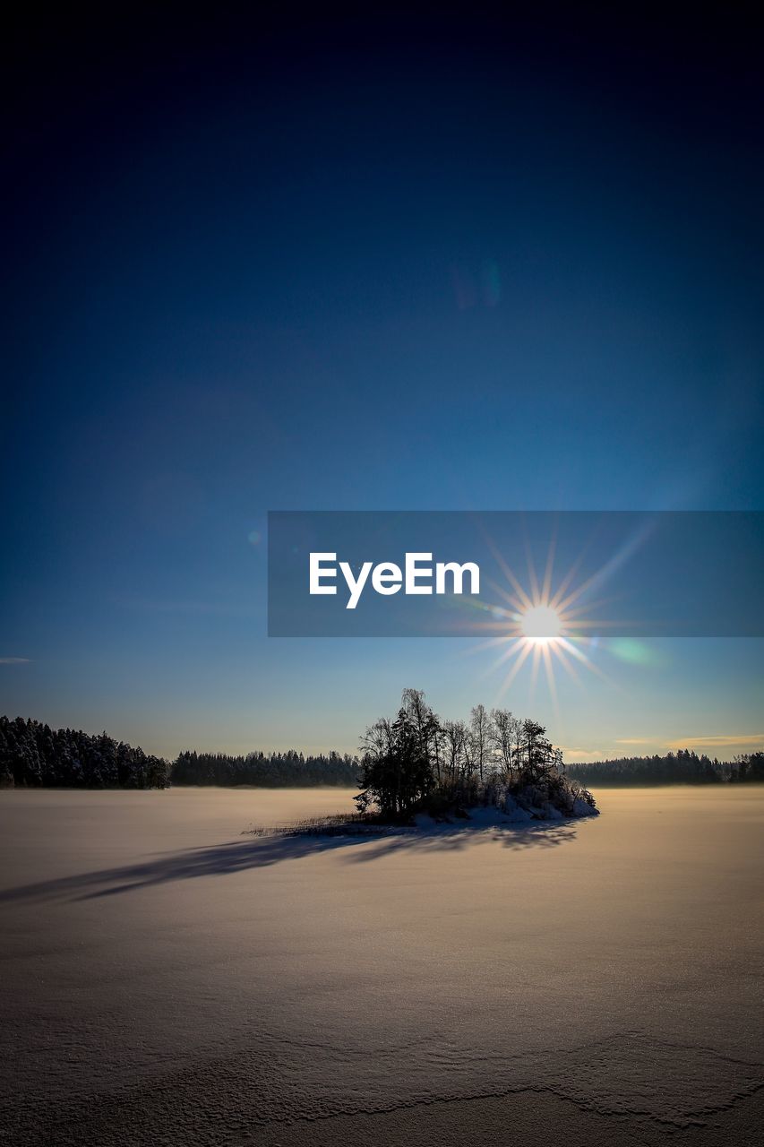
[(318, 785), (358, 783), (358, 759), (338, 752), (304, 756), (288, 752), (181, 752), (173, 762), (173, 785), (256, 785), (262, 788), (312, 788)]

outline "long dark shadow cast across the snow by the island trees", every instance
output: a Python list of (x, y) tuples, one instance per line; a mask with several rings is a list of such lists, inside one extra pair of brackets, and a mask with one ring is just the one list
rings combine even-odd
[(184, 852), (158, 853), (141, 864), (99, 872), (62, 876), (57, 880), (23, 884), (0, 891), (1, 902), (53, 900), (70, 898), (88, 900), (103, 896), (166, 884), (197, 876), (227, 876), (250, 868), (265, 868), (283, 860), (299, 860), (322, 852), (342, 850), (346, 859), (367, 864), (400, 851), (458, 851), (476, 841), (498, 841), (507, 849), (558, 848), (576, 837), (576, 825), (538, 824), (529, 826), (438, 827), (435, 829), (398, 829), (383, 835), (353, 834), (345, 836), (299, 835), (274, 832), (244, 841), (212, 844)]

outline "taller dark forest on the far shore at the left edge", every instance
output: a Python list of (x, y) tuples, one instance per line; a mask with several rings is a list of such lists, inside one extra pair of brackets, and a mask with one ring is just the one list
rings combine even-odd
[(170, 765), (106, 733), (0, 717), (0, 787), (166, 788)]

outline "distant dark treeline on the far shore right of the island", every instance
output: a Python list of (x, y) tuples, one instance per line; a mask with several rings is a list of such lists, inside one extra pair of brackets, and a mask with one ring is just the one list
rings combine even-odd
[(722, 785), (764, 781), (764, 752), (749, 752), (734, 760), (714, 760), (692, 749), (665, 756), (621, 757), (568, 765), (568, 773), (583, 785)]

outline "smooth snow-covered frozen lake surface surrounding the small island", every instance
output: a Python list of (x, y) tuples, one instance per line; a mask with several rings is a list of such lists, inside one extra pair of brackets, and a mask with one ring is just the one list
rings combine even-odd
[(243, 836), (340, 790), (0, 793), (2, 1144), (753, 1144), (764, 789)]

